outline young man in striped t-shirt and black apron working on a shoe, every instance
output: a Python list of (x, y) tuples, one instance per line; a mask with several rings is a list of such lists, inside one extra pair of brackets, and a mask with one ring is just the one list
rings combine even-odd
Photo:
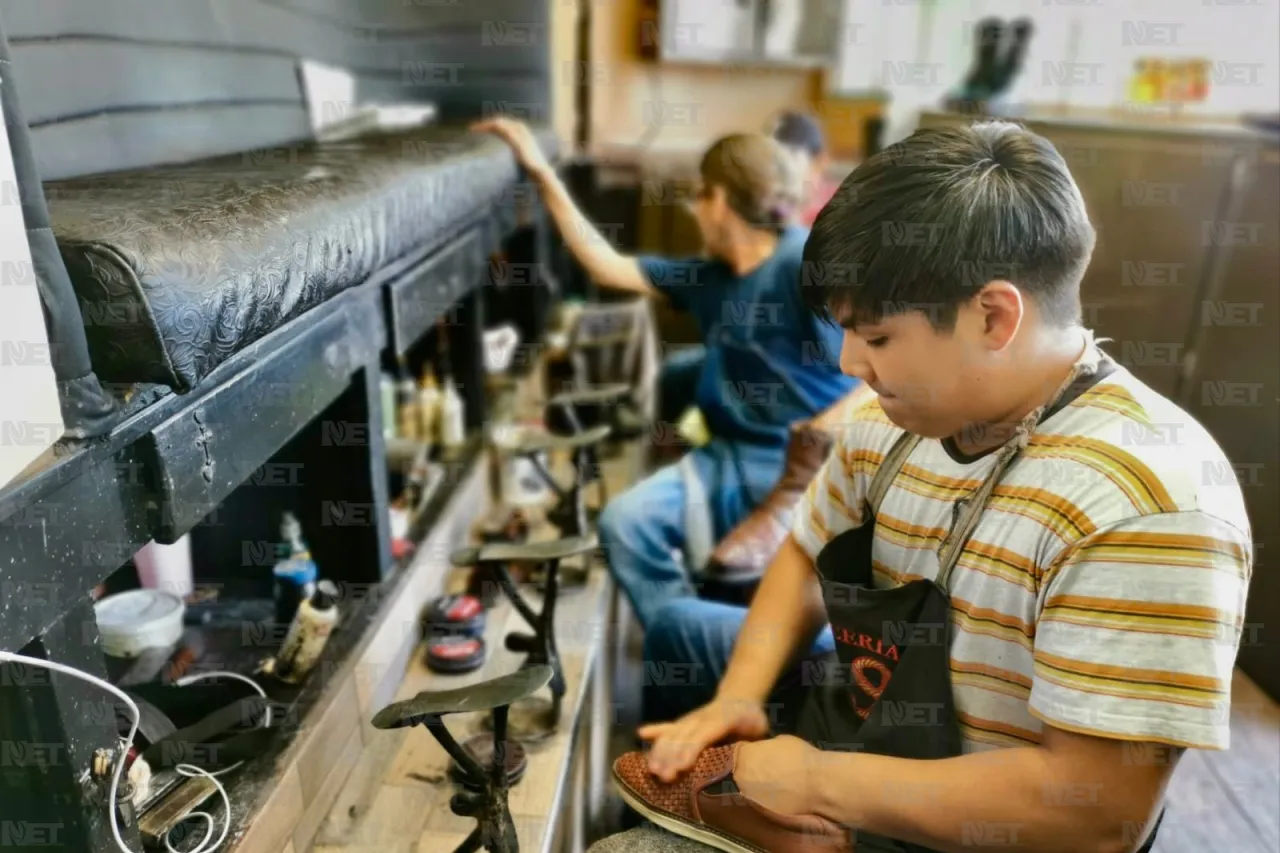
[[(1202, 475), (1216, 442), (1080, 325), (1093, 243), (1062, 158), (1010, 123), (916, 132), (841, 186), (804, 291), (879, 396), (736, 644), (682, 661), (728, 657), (718, 686), (616, 767), (643, 813), (724, 850), (832, 826), (859, 850), (1149, 849), (1181, 753), (1228, 747), (1252, 542), (1239, 487)], [(768, 738), (828, 624), (837, 657)]]

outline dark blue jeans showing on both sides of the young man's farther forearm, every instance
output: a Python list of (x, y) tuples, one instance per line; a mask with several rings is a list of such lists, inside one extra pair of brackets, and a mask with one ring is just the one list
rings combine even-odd
[[(745, 619), (745, 607), (696, 598), (681, 598), (658, 611), (644, 637), (645, 722), (676, 720), (712, 701)], [(806, 660), (829, 657), (835, 651), (827, 626)], [(800, 667), (797, 663), (783, 674), (769, 698), (774, 729), (786, 730), (799, 715), (796, 703), (804, 695)]]

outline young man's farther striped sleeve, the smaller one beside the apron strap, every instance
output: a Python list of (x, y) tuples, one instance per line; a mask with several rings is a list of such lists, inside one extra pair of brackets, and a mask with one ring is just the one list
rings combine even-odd
[(810, 480), (796, 507), (791, 535), (810, 560), (817, 560), (818, 552), (833, 537), (861, 524), (863, 492), (867, 488), (863, 469), (869, 453), (859, 446), (858, 437), (864, 433), (858, 423), (840, 432), (826, 464)]

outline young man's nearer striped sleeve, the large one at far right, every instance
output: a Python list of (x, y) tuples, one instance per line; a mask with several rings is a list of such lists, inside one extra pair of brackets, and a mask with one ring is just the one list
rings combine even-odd
[(1204, 512), (1080, 539), (1041, 588), (1030, 711), (1103, 738), (1226, 749), (1249, 535)]

